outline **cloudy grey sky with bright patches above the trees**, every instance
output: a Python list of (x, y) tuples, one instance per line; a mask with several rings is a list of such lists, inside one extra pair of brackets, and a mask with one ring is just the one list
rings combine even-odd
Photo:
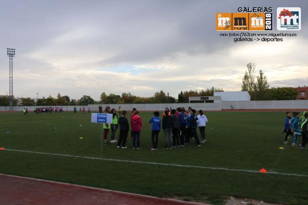
[[(214, 87), (238, 91), (246, 64), (271, 87), (308, 86), (306, 1), (1, 1), (0, 95), (8, 94), (6, 48), (16, 49), (14, 95), (71, 98), (102, 92), (152, 96)], [(215, 30), (216, 12), (301, 7), (297, 37), (233, 43)], [(274, 20), (276, 31), (276, 19)], [(277, 31), (276, 31), (277, 32)], [(295, 32), (287, 32), (295, 33)]]

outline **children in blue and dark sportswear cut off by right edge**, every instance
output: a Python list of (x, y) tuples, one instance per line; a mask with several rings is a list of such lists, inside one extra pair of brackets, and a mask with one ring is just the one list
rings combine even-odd
[(284, 144), (287, 144), (289, 136), (293, 136), (292, 146), (297, 146), (298, 138), (302, 137), (302, 143), (299, 145), (301, 150), (305, 149), (308, 142), (308, 113), (306, 111), (301, 115), (299, 112), (286, 112), (284, 128), (281, 133), (285, 133)]

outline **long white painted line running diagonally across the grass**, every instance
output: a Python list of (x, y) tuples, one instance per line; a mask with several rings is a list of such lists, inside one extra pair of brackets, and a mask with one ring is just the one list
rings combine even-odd
[[(56, 153), (47, 153), (47, 152), (33, 152), (33, 151), (26, 151), (26, 150), (5, 149), (4, 151), (24, 152), (24, 153), (32, 153), (32, 154), (44, 154), (44, 155), (63, 156), (63, 157), (74, 157), (74, 158), (83, 158), (83, 159), (96, 159), (96, 160), (105, 160), (105, 161), (118, 161), (118, 162), (128, 162), (128, 163), (143, 163), (143, 164), (146, 164), (146, 165), (162, 165), (162, 166), (169, 166), (169, 167), (185, 167), (185, 168), (197, 168), (197, 169), (208, 169), (208, 170), (260, 173), (257, 170), (228, 169), (228, 168), (220, 168), (220, 167), (202, 167), (202, 166), (194, 166), (194, 165), (178, 165), (178, 164), (172, 164), (172, 163), (133, 161), (133, 160), (125, 160), (125, 159), (108, 159), (108, 158), (75, 156), (75, 155), (56, 154)], [(261, 174), (264, 174), (264, 173), (261, 173)], [(282, 173), (282, 172), (267, 172), (265, 174), (308, 177), (308, 175), (305, 175), (305, 174)]]

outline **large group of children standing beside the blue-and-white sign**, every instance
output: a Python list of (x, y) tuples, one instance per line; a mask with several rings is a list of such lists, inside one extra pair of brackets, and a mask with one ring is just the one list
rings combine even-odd
[[(104, 129), (104, 145), (108, 145), (107, 135), (109, 130), (111, 130), (111, 140), (110, 143), (118, 142), (117, 148), (127, 148), (126, 141), (129, 132), (129, 123), (127, 116), (127, 111), (123, 110), (121, 112), (121, 117), (118, 118), (115, 109), (110, 109), (107, 106), (104, 113), (112, 114), (112, 124), (103, 124)], [(149, 119), (149, 124), (151, 124), (151, 138), (152, 138), (152, 148), (151, 150), (158, 150), (159, 133), (161, 129), (164, 132), (164, 148), (172, 149), (184, 147), (190, 143), (191, 139), (195, 139), (195, 145), (197, 147), (201, 146), (205, 140), (205, 126), (207, 124), (207, 118), (203, 114), (202, 110), (199, 110), (198, 116), (196, 116), (196, 110), (188, 108), (168, 109), (165, 108), (163, 112), (162, 119), (160, 118), (160, 113), (158, 111), (153, 112), (153, 117)], [(142, 118), (139, 116), (139, 111), (136, 108), (132, 109), (130, 114), (130, 127), (131, 127), (131, 139), (132, 139), (132, 149), (141, 149), (140, 146), (140, 133), (142, 129)], [(120, 129), (119, 140), (115, 140), (115, 131)], [(201, 142), (197, 135), (197, 128), (200, 130)]]

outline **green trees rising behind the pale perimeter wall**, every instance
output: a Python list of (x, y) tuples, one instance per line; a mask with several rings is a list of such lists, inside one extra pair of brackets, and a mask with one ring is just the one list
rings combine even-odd
[[(248, 91), (251, 100), (294, 100), (298, 92), (294, 88), (269, 88), (267, 77), (262, 70), (256, 74), (256, 65), (247, 64), (247, 70), (242, 78), (242, 91)], [(172, 97), (164, 91), (156, 92), (151, 97), (141, 97), (131, 93), (122, 93), (121, 95), (103, 92), (100, 101), (95, 101), (89, 95), (83, 95), (79, 100), (71, 100), (69, 96), (62, 96), (60, 93), (56, 97), (34, 99), (30, 97), (22, 98), (22, 106), (86, 106), (88, 104), (145, 104), (145, 103), (188, 103), (189, 96), (214, 96), (214, 92), (223, 92), (221, 88), (212, 87), (205, 90), (181, 91), (178, 98)], [(13, 105), (17, 105), (17, 99), (14, 98)], [(9, 106), (8, 96), (0, 97), (0, 106)]]

